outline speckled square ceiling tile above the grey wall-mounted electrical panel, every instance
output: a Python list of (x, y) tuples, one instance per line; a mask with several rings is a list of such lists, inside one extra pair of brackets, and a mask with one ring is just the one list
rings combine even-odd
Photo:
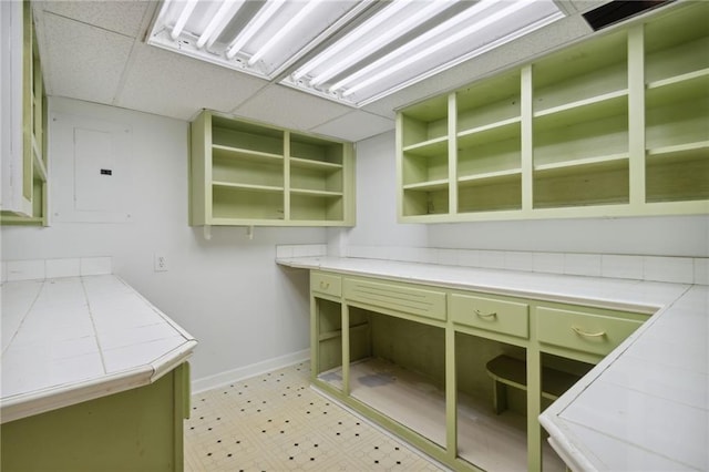
[(111, 103), (134, 40), (53, 13), (43, 14), (42, 21), (48, 92)]

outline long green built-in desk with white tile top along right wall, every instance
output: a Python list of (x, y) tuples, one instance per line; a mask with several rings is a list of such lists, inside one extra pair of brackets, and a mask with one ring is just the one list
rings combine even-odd
[[(314, 386), (454, 469), (563, 469), (540, 420), (574, 470), (646, 470), (656, 459), (706, 469), (706, 286), (353, 258), (278, 263), (310, 269)], [(525, 363), (527, 390), (508, 389), (496, 414), (485, 365), (500, 355)], [(665, 361), (685, 357), (690, 371)], [(583, 374), (548, 408), (547, 366)], [(677, 424), (671, 439), (668, 424)]]

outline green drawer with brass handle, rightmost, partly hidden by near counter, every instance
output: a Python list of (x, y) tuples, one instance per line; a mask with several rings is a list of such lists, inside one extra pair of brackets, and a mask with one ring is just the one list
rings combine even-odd
[(582, 311), (536, 309), (540, 342), (605, 356), (643, 325), (639, 320)]

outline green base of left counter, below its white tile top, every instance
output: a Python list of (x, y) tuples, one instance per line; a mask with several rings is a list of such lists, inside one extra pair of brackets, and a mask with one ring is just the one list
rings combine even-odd
[(188, 366), (154, 383), (0, 425), (0, 469), (182, 471)]

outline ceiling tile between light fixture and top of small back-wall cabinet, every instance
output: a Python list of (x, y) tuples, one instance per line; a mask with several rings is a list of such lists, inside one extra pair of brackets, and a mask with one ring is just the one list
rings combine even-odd
[(202, 109), (228, 113), (267, 84), (144, 43), (134, 54), (115, 102), (127, 109), (191, 120)]

